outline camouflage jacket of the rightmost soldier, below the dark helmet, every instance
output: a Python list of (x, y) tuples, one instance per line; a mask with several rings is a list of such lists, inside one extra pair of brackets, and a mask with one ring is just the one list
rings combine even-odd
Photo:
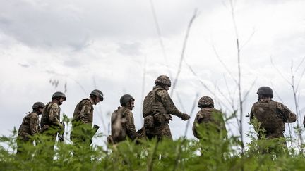
[(262, 134), (259, 133), (260, 129), (265, 129), (266, 138), (282, 137), (285, 131), (285, 122), (295, 122), (297, 115), (292, 113), (282, 103), (273, 101), (271, 99), (261, 99), (254, 103), (251, 108), (250, 121), (254, 124), (253, 120), (256, 118), (261, 124), (254, 125), (254, 129), (258, 132), (258, 137), (261, 138)]

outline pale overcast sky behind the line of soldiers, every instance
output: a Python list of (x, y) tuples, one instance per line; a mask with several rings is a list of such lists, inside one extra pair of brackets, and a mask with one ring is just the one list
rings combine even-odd
[[(188, 114), (197, 93), (196, 101), (212, 96), (215, 107), (227, 115), (232, 113), (228, 99), (234, 99), (238, 108), (237, 44), (230, 1), (0, 0), (0, 4), (0, 134), (11, 134), (33, 103), (51, 101), (55, 91), (65, 91), (65, 84), (67, 101), (61, 109), (68, 117), (78, 101), (92, 89), (100, 89), (104, 101), (95, 106), (93, 122), (107, 135), (109, 114), (123, 94), (131, 94), (136, 99), (136, 129), (140, 129), (143, 92), (148, 94), (158, 75), (174, 80), (195, 9), (197, 17), (172, 99)], [(299, 84), (298, 119), (303, 122), (305, 1), (233, 1), (233, 8), (241, 47), (242, 96), (249, 91), (242, 115), (250, 112), (261, 86), (272, 87), (278, 94), (274, 100), (295, 112), (293, 73), (296, 87)], [(50, 80), (58, 81), (58, 86)], [(198, 110), (192, 113), (191, 125)], [(248, 122), (244, 117), (244, 134), (251, 130)], [(174, 117), (169, 125), (174, 139), (183, 136), (186, 122)], [(193, 139), (191, 125), (187, 137)], [(227, 122), (227, 129), (238, 134), (234, 120)], [(103, 141), (95, 139), (95, 144)]]

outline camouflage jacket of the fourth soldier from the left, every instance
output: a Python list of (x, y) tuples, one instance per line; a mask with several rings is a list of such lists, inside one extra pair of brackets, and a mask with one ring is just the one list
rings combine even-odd
[(134, 125), (133, 113), (125, 107), (119, 107), (112, 113), (112, 139), (115, 143), (126, 140), (126, 138), (136, 139), (136, 127)]

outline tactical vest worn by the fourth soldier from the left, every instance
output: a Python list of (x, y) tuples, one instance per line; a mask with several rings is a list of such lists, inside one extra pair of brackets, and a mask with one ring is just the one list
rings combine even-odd
[(112, 113), (112, 139), (115, 143), (118, 143), (119, 141), (124, 141), (127, 136), (126, 132), (126, 119), (123, 115), (124, 108), (119, 107), (118, 110), (115, 110), (114, 113)]

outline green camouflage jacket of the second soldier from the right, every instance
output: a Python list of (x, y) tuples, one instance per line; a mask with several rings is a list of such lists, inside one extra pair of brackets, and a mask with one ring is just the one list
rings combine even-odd
[(198, 125), (211, 123), (215, 125), (218, 132), (222, 132), (224, 138), (227, 137), (227, 129), (222, 115), (222, 112), (215, 108), (201, 108), (193, 122), (193, 135), (196, 138), (201, 139), (198, 134)]

